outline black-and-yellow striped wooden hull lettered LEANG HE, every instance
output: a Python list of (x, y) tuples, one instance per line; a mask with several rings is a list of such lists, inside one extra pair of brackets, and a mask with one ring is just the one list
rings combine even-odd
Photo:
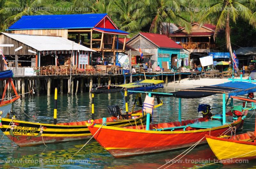
[[(140, 119), (143, 124), (146, 123), (146, 116), (136, 118), (136, 122), (141, 123)], [(115, 120), (115, 117), (108, 117), (107, 125), (118, 127), (135, 125), (135, 119), (129, 119), (129, 121)], [(13, 125), (11, 122), (13, 122)], [(95, 122), (102, 123), (102, 119), (97, 119)], [(12, 121), (11, 119), (2, 118), (3, 125), (0, 126), (0, 129), (15, 144), (24, 147), (90, 138), (92, 137), (92, 134), (85, 123), (86, 121), (59, 123), (54, 125), (19, 120)]]

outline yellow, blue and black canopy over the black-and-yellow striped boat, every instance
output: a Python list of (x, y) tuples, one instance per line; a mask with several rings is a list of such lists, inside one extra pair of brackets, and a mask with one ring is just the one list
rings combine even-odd
[[(164, 81), (161, 80), (141, 80), (135, 81), (123, 85), (111, 85), (111, 86), (102, 86), (98, 88), (92, 88), (91, 93), (100, 94), (100, 93), (115, 93), (129, 89), (132, 91), (149, 91), (157, 88), (163, 88)], [(129, 92), (128, 94), (132, 94)]]

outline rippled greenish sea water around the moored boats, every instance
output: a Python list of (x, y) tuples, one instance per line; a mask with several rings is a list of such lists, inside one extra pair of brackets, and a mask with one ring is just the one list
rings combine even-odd
[[(158, 91), (171, 92), (172, 90), (158, 89)], [(132, 109), (136, 95), (129, 95), (129, 110)], [(142, 95), (142, 99), (145, 96)], [(178, 119), (177, 98), (165, 97), (163, 106), (154, 109), (153, 123), (170, 122)], [(234, 103), (237, 101), (234, 100)], [(89, 93), (77, 95), (58, 95), (57, 123), (75, 122), (91, 119), (92, 97)], [(125, 111), (124, 94), (95, 95), (95, 119), (108, 117), (107, 106), (118, 105)], [(199, 99), (182, 99), (182, 120), (202, 117), (197, 112), (199, 104), (210, 104), (212, 113), (222, 110), (222, 95), (212, 95)], [(241, 104), (241, 103), (238, 103)], [(218, 108), (220, 107), (220, 108)], [(16, 112), (17, 119), (24, 121), (53, 123), (54, 96), (29, 95), (12, 104), (12, 112)], [(139, 109), (139, 107), (135, 107)], [(24, 113), (23, 113), (24, 112)], [(30, 116), (28, 117), (25, 113)], [(243, 132), (253, 131), (255, 114), (250, 111), (245, 119)], [(249, 118), (251, 116), (251, 118)], [(0, 131), (0, 138), (3, 132)], [(107, 137), (107, 136), (106, 136)], [(122, 141), (122, 140), (120, 140)], [(131, 140), (132, 141), (132, 140)], [(37, 145), (31, 147), (18, 147), (6, 136), (0, 141), (0, 168), (158, 168), (172, 158), (182, 153), (185, 149), (146, 154), (127, 158), (114, 158), (95, 140), (91, 140), (81, 151), (71, 158), (85, 143), (73, 141)], [(71, 158), (70, 160), (68, 160)], [(178, 158), (177, 158), (178, 159)], [(208, 144), (198, 145), (186, 156), (169, 168), (190, 168), (216, 162), (217, 158), (212, 153)], [(165, 165), (165, 167), (168, 165)], [(256, 167), (256, 160), (242, 161), (232, 165), (212, 164), (205, 168), (252, 168)]]

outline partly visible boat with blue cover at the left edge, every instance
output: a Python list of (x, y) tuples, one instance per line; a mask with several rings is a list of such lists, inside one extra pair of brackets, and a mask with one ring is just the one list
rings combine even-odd
[[(12, 77), (13, 77), (12, 70), (5, 70), (0, 72), (0, 81), (6, 80), (6, 85), (4, 87), (2, 99), (0, 99), (0, 111), (2, 111), (2, 115), (0, 115), (0, 117), (5, 117), (8, 113), (10, 113), (12, 108), (12, 102), (20, 98), (20, 95), (18, 95), (15, 89), (15, 86), (13, 84)], [(11, 87), (14, 91), (14, 96), (5, 98), (5, 94), (6, 94), (9, 83), (11, 84)]]

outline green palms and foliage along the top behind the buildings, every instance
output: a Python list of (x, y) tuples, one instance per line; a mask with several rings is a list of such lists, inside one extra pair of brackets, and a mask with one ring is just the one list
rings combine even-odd
[[(200, 22), (217, 25), (217, 45), (227, 43), (228, 33), (238, 46), (253, 46), (255, 11), (255, 0), (0, 0), (0, 29), (4, 31), (23, 15), (108, 13), (119, 29), (130, 32), (129, 38), (138, 32), (161, 33), (162, 22), (188, 32), (190, 23)], [(225, 32), (228, 13), (230, 32)]]

